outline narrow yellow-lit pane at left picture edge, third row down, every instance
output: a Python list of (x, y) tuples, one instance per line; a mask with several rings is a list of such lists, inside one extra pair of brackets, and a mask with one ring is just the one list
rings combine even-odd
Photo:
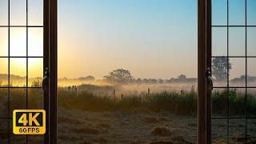
[(8, 86), (8, 58), (0, 58), (0, 87)]

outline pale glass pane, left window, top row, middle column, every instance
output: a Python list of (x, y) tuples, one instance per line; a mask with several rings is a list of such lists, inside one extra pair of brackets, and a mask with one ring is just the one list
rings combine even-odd
[(10, 26), (26, 26), (26, 0), (10, 0)]

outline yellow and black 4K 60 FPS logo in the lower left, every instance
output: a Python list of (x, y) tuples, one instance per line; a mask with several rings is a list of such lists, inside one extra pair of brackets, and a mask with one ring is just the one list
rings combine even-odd
[(14, 134), (45, 134), (46, 111), (14, 110), (13, 131)]

